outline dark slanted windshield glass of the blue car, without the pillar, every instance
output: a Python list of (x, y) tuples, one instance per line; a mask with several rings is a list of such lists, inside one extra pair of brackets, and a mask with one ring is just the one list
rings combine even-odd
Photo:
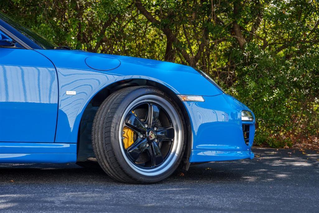
[(34, 43), (36, 43), (37, 45), (39, 45), (45, 50), (50, 50), (57, 47), (56, 44), (48, 41), (43, 36), (37, 34), (30, 28), (20, 25), (18, 22), (11, 19), (9, 16), (5, 15), (2, 12), (0, 12), (0, 19), (6, 22), (7, 24), (11, 25), (11, 27), (15, 28), (22, 35), (26, 36), (27, 38), (29, 38), (30, 40), (32, 40)]

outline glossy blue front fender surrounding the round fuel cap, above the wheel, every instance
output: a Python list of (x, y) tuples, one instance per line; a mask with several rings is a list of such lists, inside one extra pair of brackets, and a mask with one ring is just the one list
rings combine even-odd
[[(77, 143), (78, 127), (89, 101), (103, 88), (125, 79), (145, 79), (160, 83), (175, 94), (217, 95), (222, 93), (192, 67), (125, 56), (106, 55), (121, 61), (117, 68), (95, 70), (85, 63), (85, 51), (37, 50), (50, 59), (57, 71), (59, 108), (56, 128), (57, 143)], [(104, 62), (107, 60), (104, 59)], [(75, 91), (76, 95), (67, 95)]]

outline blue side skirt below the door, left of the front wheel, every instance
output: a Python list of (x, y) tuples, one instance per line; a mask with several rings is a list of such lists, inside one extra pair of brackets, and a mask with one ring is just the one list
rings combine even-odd
[(71, 163), (76, 161), (76, 144), (0, 142), (0, 163)]

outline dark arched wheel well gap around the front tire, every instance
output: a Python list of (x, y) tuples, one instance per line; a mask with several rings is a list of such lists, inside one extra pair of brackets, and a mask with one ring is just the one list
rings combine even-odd
[(121, 79), (114, 83), (111, 83), (103, 88), (101, 88), (96, 94), (94, 94), (90, 100), (85, 104), (85, 108), (82, 112), (81, 119), (78, 125), (78, 140), (77, 140), (77, 161), (85, 161), (89, 158), (94, 158), (95, 155), (93, 153), (92, 148), (92, 138), (91, 138), (91, 130), (92, 123), (95, 116), (95, 113), (100, 106), (100, 104), (113, 92), (118, 91), (120, 89), (126, 87), (133, 86), (152, 86), (156, 87), (165, 93), (167, 93), (170, 98), (172, 98), (182, 111), (182, 115), (184, 116), (186, 122), (186, 131), (187, 131), (187, 141), (184, 157), (182, 159), (181, 165), (179, 166), (180, 170), (188, 170), (189, 168), (189, 157), (192, 150), (192, 130), (191, 130), (191, 122), (189, 119), (189, 115), (187, 110), (182, 103), (181, 99), (176, 95), (176, 90), (170, 85), (165, 85), (165, 83), (159, 80), (151, 80), (145, 78), (127, 78)]

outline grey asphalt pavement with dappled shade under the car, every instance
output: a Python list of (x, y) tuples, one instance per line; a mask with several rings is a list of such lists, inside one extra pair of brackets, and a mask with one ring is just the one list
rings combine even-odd
[(153, 185), (75, 164), (0, 164), (0, 212), (319, 212), (316, 151), (253, 152), (253, 160), (195, 165)]

